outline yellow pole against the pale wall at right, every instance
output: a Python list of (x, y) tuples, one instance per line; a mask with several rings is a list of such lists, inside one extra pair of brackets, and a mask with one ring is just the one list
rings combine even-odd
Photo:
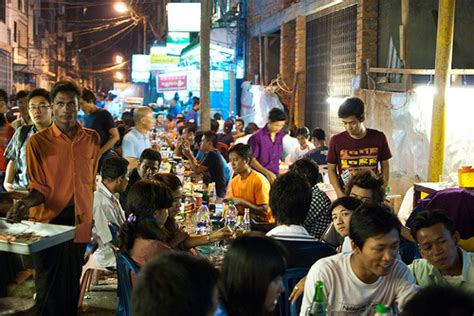
[(444, 141), (446, 129), (446, 92), (449, 88), (449, 73), (453, 55), (454, 11), (456, 0), (439, 0), (438, 34), (436, 36), (436, 59), (433, 115), (431, 118), (430, 155), (428, 181), (438, 182), (443, 174)]

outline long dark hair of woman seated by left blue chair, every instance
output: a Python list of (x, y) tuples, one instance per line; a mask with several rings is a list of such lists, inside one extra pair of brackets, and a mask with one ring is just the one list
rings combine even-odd
[(135, 218), (127, 220), (120, 228), (120, 251), (129, 254), (138, 237), (166, 241), (166, 232), (158, 226), (154, 213), (167, 209), (172, 203), (171, 190), (163, 183), (140, 180), (132, 185), (127, 195), (127, 206), (128, 211), (133, 213), (129, 218)]

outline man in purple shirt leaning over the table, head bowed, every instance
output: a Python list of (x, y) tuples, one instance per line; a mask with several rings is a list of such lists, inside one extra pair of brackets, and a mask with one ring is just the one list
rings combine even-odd
[(286, 114), (278, 108), (273, 108), (268, 115), (268, 123), (252, 135), (248, 144), (252, 147), (253, 168), (265, 175), (270, 183), (278, 175), (280, 155), (283, 151), (282, 131), (286, 124)]

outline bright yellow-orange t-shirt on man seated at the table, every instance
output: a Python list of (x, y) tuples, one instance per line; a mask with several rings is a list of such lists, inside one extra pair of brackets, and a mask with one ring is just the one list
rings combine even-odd
[[(243, 180), (240, 175), (235, 176), (229, 183), (229, 198), (241, 198), (255, 205), (268, 204), (270, 199), (270, 182), (261, 173), (252, 170), (249, 176)], [(240, 210), (240, 205), (239, 211)], [(267, 214), (267, 220), (271, 221), (271, 212)]]

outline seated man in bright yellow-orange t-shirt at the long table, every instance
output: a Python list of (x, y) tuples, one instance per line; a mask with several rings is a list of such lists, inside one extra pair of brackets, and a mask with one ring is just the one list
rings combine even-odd
[(234, 201), (239, 212), (248, 207), (254, 217), (270, 221), (270, 182), (250, 166), (252, 147), (245, 144), (235, 145), (229, 150), (229, 160), (236, 174), (229, 183), (229, 199)]

